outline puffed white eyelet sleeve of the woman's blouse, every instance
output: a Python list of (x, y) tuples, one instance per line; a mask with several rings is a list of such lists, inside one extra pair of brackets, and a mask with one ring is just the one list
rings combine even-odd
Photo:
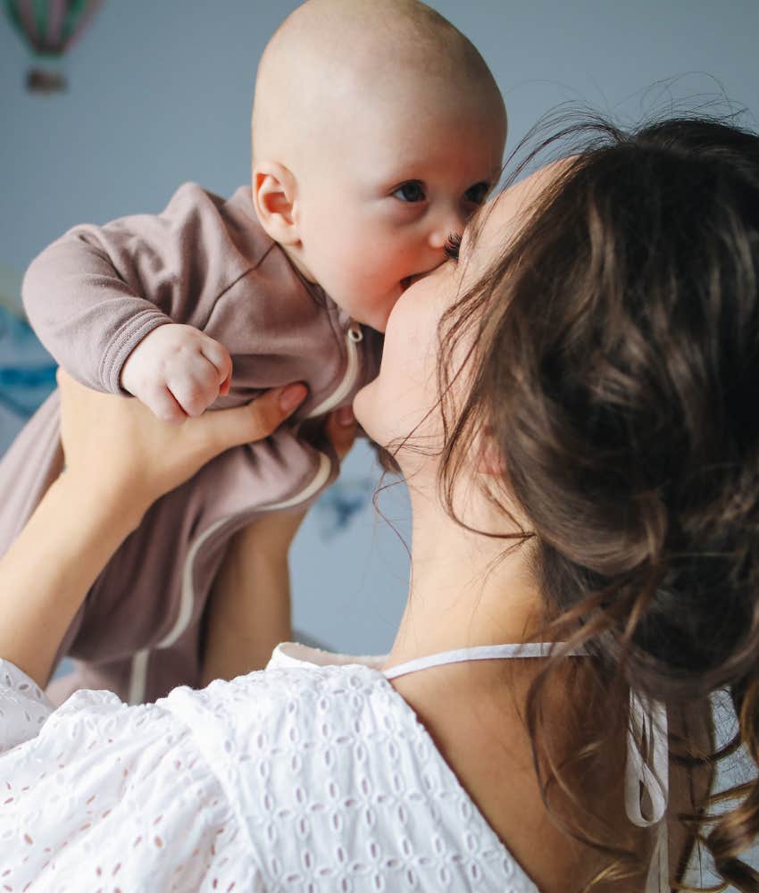
[(262, 889), (212, 764), (161, 701), (79, 691), (54, 710), (0, 661), (0, 711), (3, 889)]

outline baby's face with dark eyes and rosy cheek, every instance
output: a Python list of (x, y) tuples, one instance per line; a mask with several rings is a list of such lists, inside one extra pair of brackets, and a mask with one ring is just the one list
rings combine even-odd
[(300, 264), (338, 306), (380, 331), (484, 202), (505, 144), (502, 107), (410, 105), (360, 110), (298, 182)]

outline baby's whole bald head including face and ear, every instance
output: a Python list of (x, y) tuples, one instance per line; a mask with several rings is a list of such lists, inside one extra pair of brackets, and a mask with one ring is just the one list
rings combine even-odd
[(504, 101), (419, 0), (307, 0), (271, 38), (253, 113), (255, 212), (307, 280), (384, 331), (501, 171)]

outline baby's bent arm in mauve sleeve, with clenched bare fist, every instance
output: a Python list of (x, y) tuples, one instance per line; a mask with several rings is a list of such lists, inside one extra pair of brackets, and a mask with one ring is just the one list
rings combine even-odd
[[(38, 255), (24, 279), (24, 305), (64, 369), (98, 390), (129, 390), (156, 414), (168, 404), (174, 417), (170, 392), (187, 414), (200, 411), (214, 388), (223, 393), (229, 354), (195, 331), (246, 271), (230, 248), (220, 204), (186, 184), (163, 213), (75, 227)], [(163, 386), (163, 398), (155, 396)]]

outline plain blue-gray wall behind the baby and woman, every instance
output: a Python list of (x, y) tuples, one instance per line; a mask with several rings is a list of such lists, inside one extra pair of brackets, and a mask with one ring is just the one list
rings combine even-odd
[[(433, 0), (480, 47), (503, 89), (509, 144), (567, 99), (635, 117), (721, 87), (759, 111), (756, 0)], [(248, 179), (261, 50), (292, 0), (106, 0), (68, 60), (70, 90), (29, 96), (28, 56), (0, 21), (0, 265), (21, 271), (81, 221), (158, 211), (194, 179), (222, 194)], [(646, 88), (683, 75), (668, 88)], [(2, 432), (0, 432), (2, 438)], [(347, 479), (375, 476), (356, 452)], [(403, 488), (382, 505), (407, 536)], [(313, 513), (295, 551), (296, 625), (331, 647), (390, 644), (405, 549), (371, 510), (331, 538)]]

